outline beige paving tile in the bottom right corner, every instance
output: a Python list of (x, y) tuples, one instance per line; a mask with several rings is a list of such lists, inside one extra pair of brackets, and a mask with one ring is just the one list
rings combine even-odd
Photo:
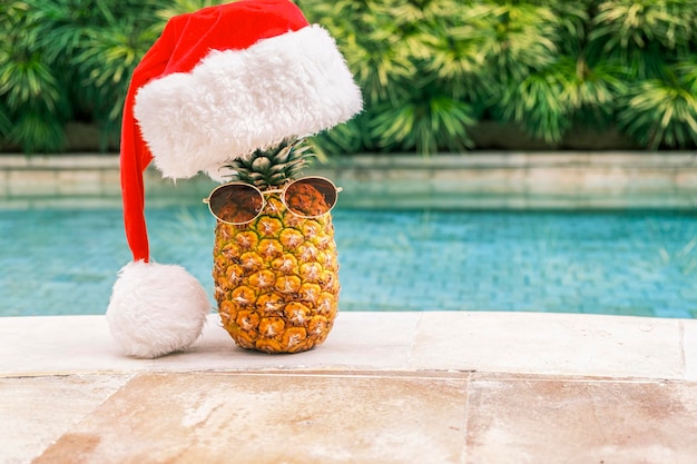
[(473, 376), (467, 464), (693, 464), (697, 385)]

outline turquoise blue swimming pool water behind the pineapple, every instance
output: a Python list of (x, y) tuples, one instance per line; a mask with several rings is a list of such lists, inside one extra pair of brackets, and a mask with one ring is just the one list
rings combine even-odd
[[(149, 208), (153, 256), (209, 289), (203, 205)], [(341, 310), (697, 317), (697, 216), (337, 209)], [(102, 314), (130, 254), (121, 211), (0, 210), (0, 316)]]

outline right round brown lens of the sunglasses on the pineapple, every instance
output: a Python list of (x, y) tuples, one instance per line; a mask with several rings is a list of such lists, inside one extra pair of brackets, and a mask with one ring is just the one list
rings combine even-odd
[(336, 205), (336, 187), (322, 178), (300, 179), (286, 188), (284, 199), (294, 214), (317, 217), (328, 213)]

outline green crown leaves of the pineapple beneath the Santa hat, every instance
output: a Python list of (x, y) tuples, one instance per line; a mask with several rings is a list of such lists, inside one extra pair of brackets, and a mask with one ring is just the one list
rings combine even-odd
[(228, 181), (254, 185), (261, 190), (278, 187), (301, 176), (311, 157), (305, 139), (287, 138), (271, 148), (257, 148), (248, 156), (233, 159), (225, 168), (232, 174)]

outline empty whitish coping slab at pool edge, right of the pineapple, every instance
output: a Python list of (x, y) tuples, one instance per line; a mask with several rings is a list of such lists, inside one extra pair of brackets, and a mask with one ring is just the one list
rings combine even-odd
[(411, 368), (677, 378), (676, 319), (541, 313), (425, 313)]

